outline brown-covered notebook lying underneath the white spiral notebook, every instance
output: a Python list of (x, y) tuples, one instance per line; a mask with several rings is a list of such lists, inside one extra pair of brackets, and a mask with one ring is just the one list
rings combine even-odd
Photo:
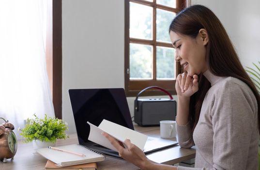
[(88, 164), (73, 165), (68, 167), (58, 167), (54, 162), (47, 160), (45, 165), (46, 170), (97, 170), (97, 164), (95, 162)]

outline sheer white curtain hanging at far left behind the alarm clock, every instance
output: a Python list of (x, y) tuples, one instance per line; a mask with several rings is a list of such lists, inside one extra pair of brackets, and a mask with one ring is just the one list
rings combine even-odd
[(34, 113), (54, 117), (45, 42), (46, 0), (0, 0), (0, 117), (17, 138)]

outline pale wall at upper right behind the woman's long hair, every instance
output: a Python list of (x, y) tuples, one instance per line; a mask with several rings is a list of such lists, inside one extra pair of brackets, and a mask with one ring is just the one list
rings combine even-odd
[(242, 65), (260, 61), (260, 0), (191, 0), (209, 7), (224, 25)]

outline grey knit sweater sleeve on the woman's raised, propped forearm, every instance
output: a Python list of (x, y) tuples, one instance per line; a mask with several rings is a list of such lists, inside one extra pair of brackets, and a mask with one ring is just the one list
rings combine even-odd
[(178, 142), (180, 147), (191, 148), (194, 145), (190, 122), (186, 125), (179, 125), (176, 123), (176, 131), (178, 134)]

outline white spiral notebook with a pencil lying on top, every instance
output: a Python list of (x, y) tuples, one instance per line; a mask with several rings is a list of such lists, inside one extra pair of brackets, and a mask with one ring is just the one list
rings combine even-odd
[(105, 155), (92, 151), (89, 148), (78, 144), (57, 146), (66, 151), (72, 151), (76, 153), (82, 153), (86, 156), (79, 156), (72, 153), (61, 152), (49, 148), (41, 148), (36, 150), (37, 153), (56, 163), (57, 166), (66, 167), (72, 165), (86, 164), (91, 162), (99, 162), (105, 160)]

